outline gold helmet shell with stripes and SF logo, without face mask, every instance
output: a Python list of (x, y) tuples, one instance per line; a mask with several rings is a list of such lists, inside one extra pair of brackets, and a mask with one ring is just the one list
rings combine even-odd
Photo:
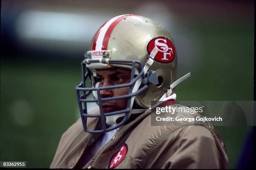
[(159, 84), (149, 83), (148, 89), (135, 98), (139, 106), (151, 107), (151, 101), (158, 101), (176, 80), (177, 52), (172, 37), (159, 23), (143, 16), (120, 15), (109, 21), (112, 23), (107, 21), (96, 32), (90, 51), (109, 50), (111, 59), (138, 60), (145, 65), (152, 50), (150, 47), (155, 45), (159, 49), (158, 58), (154, 58), (149, 68), (156, 71)]

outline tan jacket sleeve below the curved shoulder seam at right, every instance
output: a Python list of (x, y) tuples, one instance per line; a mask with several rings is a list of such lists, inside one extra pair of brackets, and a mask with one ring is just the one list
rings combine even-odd
[(145, 160), (144, 168), (228, 168), (228, 157), (222, 146), (201, 125), (185, 126), (166, 135)]

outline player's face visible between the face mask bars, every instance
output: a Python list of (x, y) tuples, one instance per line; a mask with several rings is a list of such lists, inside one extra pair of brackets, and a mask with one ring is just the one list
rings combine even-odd
[[(129, 83), (131, 81), (131, 70), (119, 67), (97, 69), (97, 79), (100, 82), (99, 87)], [(129, 87), (100, 90), (100, 97), (117, 97), (127, 95), (128, 92)], [(123, 110), (127, 107), (127, 100), (128, 98), (102, 102), (103, 112), (107, 113)]]

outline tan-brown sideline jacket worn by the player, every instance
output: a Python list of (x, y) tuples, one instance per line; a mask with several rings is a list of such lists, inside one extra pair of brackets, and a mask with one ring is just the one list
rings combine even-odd
[[(99, 110), (92, 112), (96, 113)], [(183, 113), (181, 116), (195, 115)], [(175, 126), (151, 126), (151, 111), (146, 110), (117, 130), (112, 140), (84, 168), (110, 168), (124, 144), (127, 153), (112, 168), (228, 168), (220, 135), (209, 123), (199, 124), (179, 122)], [(98, 118), (88, 119), (89, 129), (100, 126)], [(100, 135), (85, 133), (81, 120), (77, 120), (62, 135), (50, 168), (74, 168)]]

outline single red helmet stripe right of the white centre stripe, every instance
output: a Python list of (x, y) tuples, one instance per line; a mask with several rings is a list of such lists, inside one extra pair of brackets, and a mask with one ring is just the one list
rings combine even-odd
[(108, 28), (107, 32), (105, 33), (103, 42), (102, 42), (102, 50), (107, 50), (108, 48), (108, 40), (110, 38), (110, 35), (112, 31), (114, 30), (115, 26), (118, 25), (118, 23), (123, 20), (124, 18), (128, 16), (134, 16), (132, 14), (122, 15), (121, 17), (117, 18)]

